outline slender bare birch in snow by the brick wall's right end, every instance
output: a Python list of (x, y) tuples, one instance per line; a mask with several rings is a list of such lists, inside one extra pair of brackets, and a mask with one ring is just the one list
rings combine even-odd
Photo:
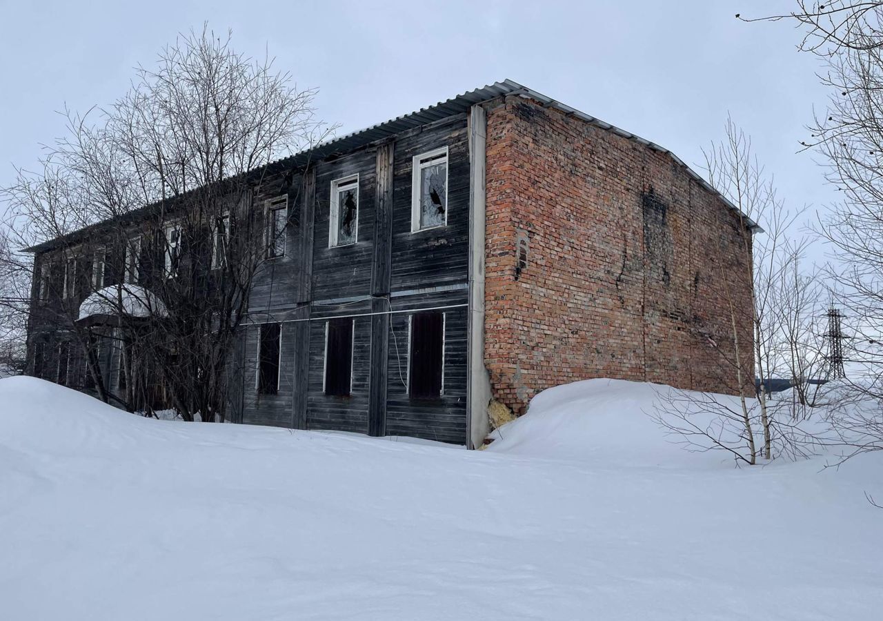
[[(727, 121), (725, 139), (705, 155), (710, 183), (738, 209), (741, 256), (736, 265), (747, 270), (746, 281), (753, 284), (747, 305), (742, 301), (745, 292), (725, 292), (731, 343), (715, 344), (732, 369), (735, 381), (730, 388), (735, 389), (736, 400), (674, 390), (663, 395), (653, 417), (691, 450), (729, 451), (738, 461), (753, 465), (758, 457), (771, 459), (777, 451), (793, 451), (792, 421), (777, 416), (766, 386), (788, 369), (789, 362), (796, 366), (805, 357), (803, 344), (796, 340), (804, 336), (812, 291), (800, 275), (805, 241), (788, 239), (800, 212), (790, 213), (784, 207), (773, 179), (752, 153), (751, 139), (732, 119)], [(752, 234), (756, 222), (766, 231)], [(721, 282), (725, 282), (723, 274)], [(795, 307), (790, 313), (781, 306), (786, 299)]]

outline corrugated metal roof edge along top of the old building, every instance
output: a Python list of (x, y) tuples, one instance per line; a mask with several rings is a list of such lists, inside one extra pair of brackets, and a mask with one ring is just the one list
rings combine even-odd
[[(615, 125), (610, 125), (609, 123), (600, 120), (600, 118), (595, 118), (591, 115), (585, 114), (585, 112), (581, 112), (575, 108), (572, 108), (565, 103), (558, 102), (551, 97), (547, 97), (547, 95), (538, 93), (537, 91), (518, 84), (513, 80), (494, 82), (494, 84), (490, 84), (481, 88), (476, 88), (475, 90), (466, 92), (462, 95), (452, 97), (447, 101), (438, 102), (432, 106), (421, 108), (420, 110), (416, 110), (409, 114), (404, 114), (400, 117), (390, 118), (389, 121), (378, 123), (377, 125), (371, 125), (370, 127), (358, 130), (357, 132), (347, 133), (332, 140), (322, 142), (321, 144), (313, 148), (306, 149), (295, 155), (290, 155), (280, 160), (276, 160), (274, 163), (270, 164), (270, 168), (275, 169), (277, 167), (298, 167), (311, 160), (315, 161), (325, 159), (327, 157), (333, 157), (336, 155), (344, 155), (355, 149), (363, 148), (366, 145), (372, 144), (379, 140), (387, 140), (398, 133), (414, 129), (421, 125), (434, 123), (435, 121), (439, 121), (447, 117), (452, 117), (457, 114), (464, 114), (466, 112), (469, 112), (469, 109), (472, 107), (472, 105), (476, 103), (488, 102), (492, 99), (496, 99), (497, 97), (501, 97), (504, 95), (520, 95), (525, 98), (532, 99), (536, 102), (540, 102), (544, 106), (554, 108), (555, 110), (561, 110), (562, 112), (570, 116), (577, 117), (585, 121), (586, 123), (597, 125), (598, 127), (607, 130), (608, 132), (613, 132), (629, 140), (636, 140), (640, 144), (645, 145), (648, 148), (652, 148), (655, 151), (660, 151), (661, 153), (667, 154), (675, 161), (675, 163), (683, 166), (683, 168), (687, 170), (687, 173), (691, 176), (691, 178), (694, 178), (701, 186), (719, 196), (721, 200), (728, 205), (729, 208), (732, 208), (734, 211), (738, 212), (738, 209), (735, 205), (728, 201), (726, 197), (724, 197), (721, 193), (719, 193), (711, 185), (709, 185), (708, 182), (704, 178), (702, 178), (695, 170), (692, 170), (690, 166), (688, 166), (686, 163), (683, 163), (683, 161), (677, 155), (669, 151), (667, 148), (660, 147), (660, 145), (655, 144), (650, 140), (641, 138), (634, 133), (626, 132), (625, 130), (620, 129)], [(751, 221), (751, 219), (747, 216), (745, 216), (745, 220), (748, 222), (749, 227), (753, 231), (763, 231), (763, 229), (761, 229), (757, 223)], [(95, 225), (87, 227), (87, 229), (84, 231), (92, 230), (94, 229), (94, 226)], [(75, 233), (72, 233), (72, 235), (76, 236), (79, 232), (80, 231), (76, 231)], [(59, 240), (60, 238), (49, 240), (37, 246), (27, 248), (26, 251), (38, 252), (41, 250), (45, 250), (54, 246), (55, 243)]]

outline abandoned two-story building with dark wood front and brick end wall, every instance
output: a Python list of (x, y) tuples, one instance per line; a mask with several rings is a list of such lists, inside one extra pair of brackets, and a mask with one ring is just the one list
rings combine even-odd
[[(564, 382), (733, 390), (734, 318), (751, 360), (754, 224), (667, 150), (510, 80), (270, 173), (251, 208), (283, 235), (254, 279), (230, 420), (473, 447), (492, 399), (520, 414)], [(89, 390), (39, 320), (57, 240), (31, 250), (30, 371)], [(91, 286), (138, 282), (124, 259)], [(98, 354), (111, 391), (120, 349)]]

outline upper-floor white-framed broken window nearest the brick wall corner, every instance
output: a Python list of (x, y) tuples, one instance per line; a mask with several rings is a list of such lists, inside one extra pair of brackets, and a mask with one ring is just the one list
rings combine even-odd
[(411, 178), (411, 232), (448, 223), (448, 148), (415, 155)]

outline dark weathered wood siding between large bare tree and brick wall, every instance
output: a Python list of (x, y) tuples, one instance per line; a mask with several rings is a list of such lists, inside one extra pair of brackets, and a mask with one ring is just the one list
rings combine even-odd
[[(241, 420), (293, 428), (371, 435), (466, 440), (466, 302), (469, 235), (469, 153), (464, 115), (411, 130), (382, 144), (286, 170), (254, 197), (264, 208), (289, 196), (285, 255), (255, 278), (245, 329)], [(411, 162), (447, 146), (448, 224), (411, 233)], [(356, 243), (329, 247), (332, 182), (358, 174)], [(408, 364), (411, 310), (444, 307), (444, 390), (411, 399), (399, 367)], [(351, 395), (323, 390), (326, 325), (353, 325)], [(256, 387), (260, 322), (282, 322), (280, 387)]]

